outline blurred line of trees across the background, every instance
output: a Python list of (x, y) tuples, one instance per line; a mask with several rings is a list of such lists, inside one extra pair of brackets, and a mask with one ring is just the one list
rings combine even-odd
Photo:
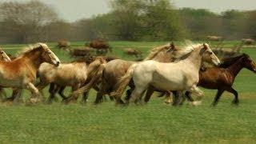
[(111, 11), (77, 22), (58, 17), (54, 7), (39, 1), (0, 3), (0, 42), (202, 40), (256, 38), (256, 10), (175, 8), (169, 0), (110, 0)]

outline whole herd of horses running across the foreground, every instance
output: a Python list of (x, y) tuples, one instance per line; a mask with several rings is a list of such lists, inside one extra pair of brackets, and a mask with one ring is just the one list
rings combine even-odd
[[(90, 89), (94, 89), (95, 104), (104, 102), (106, 94), (117, 105), (142, 103), (145, 93), (144, 102), (149, 102), (158, 92), (174, 106), (182, 105), (186, 99), (196, 106), (201, 103), (203, 92), (198, 86), (202, 86), (218, 90), (213, 106), (224, 91), (234, 94), (233, 103), (238, 105), (238, 92), (232, 87), (234, 79), (242, 68), (256, 73), (256, 64), (248, 54), (220, 61), (206, 43), (181, 47), (168, 43), (150, 50), (142, 62), (98, 56), (90, 61), (62, 63), (44, 43), (31, 46), (14, 59), (3, 50), (0, 54), (0, 93), (6, 87), (13, 90), (12, 96), (2, 98), (2, 102), (18, 101), (23, 89), (30, 90), (30, 103), (40, 102), (40, 92), (50, 85), (48, 103), (53, 102), (56, 93), (66, 104), (77, 102), (82, 94), (85, 103)], [(205, 63), (212, 66), (206, 67)], [(63, 94), (66, 86), (72, 87), (68, 96)], [(126, 97), (122, 98), (125, 91)], [(196, 100), (191, 94), (197, 96)]]

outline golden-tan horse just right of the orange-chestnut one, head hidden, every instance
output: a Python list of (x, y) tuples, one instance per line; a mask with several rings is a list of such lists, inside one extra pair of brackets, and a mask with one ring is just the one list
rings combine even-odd
[(57, 68), (48, 64), (43, 63), (38, 70), (40, 83), (38, 83), (38, 89), (42, 90), (48, 84), (50, 84), (50, 97), (48, 102), (52, 102), (57, 91), (64, 100), (64, 102), (69, 102), (70, 100), (76, 100), (78, 94), (72, 94), (72, 98), (66, 98), (62, 93), (65, 86), (71, 86), (72, 91), (78, 90), (88, 78), (88, 75), (94, 73), (97, 70), (96, 67), (102, 65), (105, 60), (102, 58), (96, 58), (94, 62), (87, 63), (85, 61), (76, 61), (70, 63), (62, 63)]

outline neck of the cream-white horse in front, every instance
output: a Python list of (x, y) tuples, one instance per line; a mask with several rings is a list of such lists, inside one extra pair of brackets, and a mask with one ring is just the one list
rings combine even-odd
[(190, 55), (184, 60), (186, 62), (190, 62), (192, 65), (195, 66), (196, 70), (200, 70), (202, 65), (202, 55), (199, 54), (201, 49), (193, 50)]

